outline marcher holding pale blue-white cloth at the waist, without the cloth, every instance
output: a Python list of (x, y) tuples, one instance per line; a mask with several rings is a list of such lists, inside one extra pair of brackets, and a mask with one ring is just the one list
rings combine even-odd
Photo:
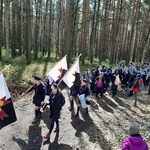
[[(90, 91), (89, 91), (89, 87), (88, 87), (88, 81), (86, 79), (82, 79), (81, 88), (80, 88), (78, 94), (79, 94), (79, 97), (80, 97), (80, 95), (85, 94), (85, 99), (88, 95), (90, 95)], [(81, 107), (81, 102), (80, 102), (80, 98), (79, 98), (79, 102), (77, 104), (76, 116), (79, 116), (80, 107)], [(86, 113), (88, 114), (88, 107), (86, 108)]]

